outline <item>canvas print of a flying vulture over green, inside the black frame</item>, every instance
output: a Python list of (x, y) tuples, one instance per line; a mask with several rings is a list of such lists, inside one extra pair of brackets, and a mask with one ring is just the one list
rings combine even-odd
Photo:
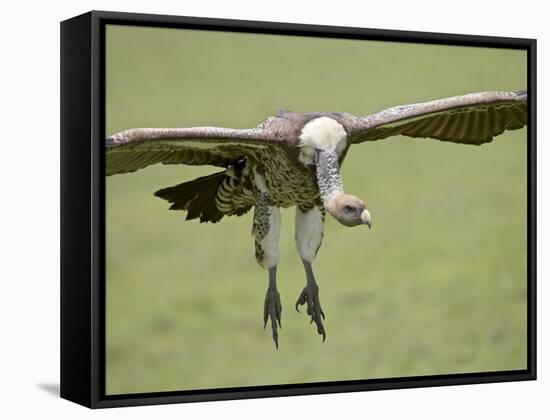
[(527, 53), (110, 24), (106, 395), (527, 368)]

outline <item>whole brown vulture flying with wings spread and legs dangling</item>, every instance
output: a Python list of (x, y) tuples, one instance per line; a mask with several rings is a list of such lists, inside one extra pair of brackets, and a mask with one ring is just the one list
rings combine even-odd
[[(279, 209), (294, 206), (295, 241), (306, 284), (295, 304), (325, 341), (319, 287), (312, 263), (328, 212), (344, 226), (372, 226), (363, 200), (344, 192), (340, 167), (352, 145), (392, 136), (482, 145), (527, 124), (527, 92), (478, 92), (355, 116), (346, 112), (275, 116), (249, 129), (221, 127), (131, 128), (106, 138), (106, 175), (149, 165), (211, 165), (219, 171), (155, 192), (184, 210), (186, 219), (219, 222), (254, 207), (255, 257), (268, 272), (264, 329), (271, 321), (278, 348), (282, 305), (277, 290)], [(278, 327), (277, 327), (278, 324)]]

